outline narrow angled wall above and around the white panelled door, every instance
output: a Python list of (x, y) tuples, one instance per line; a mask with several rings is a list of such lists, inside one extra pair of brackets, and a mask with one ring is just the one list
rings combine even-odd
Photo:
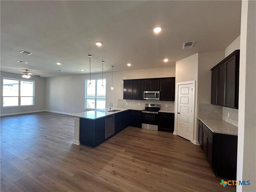
[[(195, 109), (194, 109), (194, 134), (193, 134), (193, 142), (196, 143), (198, 140), (197, 134), (197, 92), (198, 92), (198, 53), (186, 57), (182, 60), (176, 61), (176, 83), (178, 82), (186, 82), (186, 81), (196, 81), (195, 84)], [(177, 98), (175, 98), (177, 101)], [(177, 111), (177, 109), (175, 109)], [(174, 132), (177, 133), (177, 114), (175, 113), (175, 125)]]

